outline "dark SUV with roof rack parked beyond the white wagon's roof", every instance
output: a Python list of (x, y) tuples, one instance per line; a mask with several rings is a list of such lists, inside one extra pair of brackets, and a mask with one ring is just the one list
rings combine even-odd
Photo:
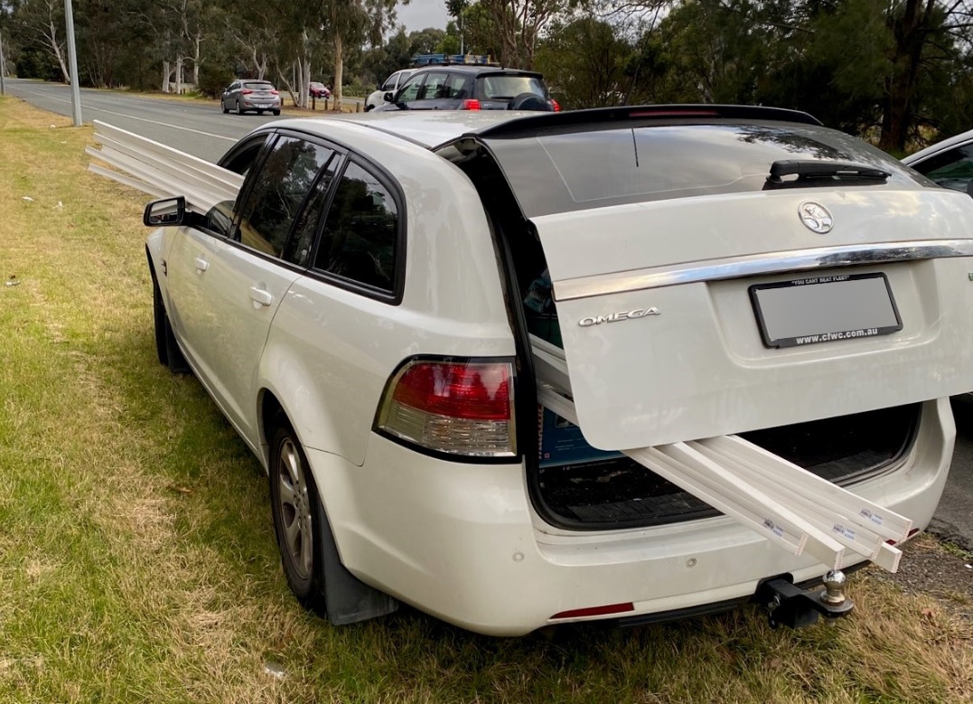
[(376, 110), (560, 110), (541, 74), (495, 66), (420, 68), (385, 100)]

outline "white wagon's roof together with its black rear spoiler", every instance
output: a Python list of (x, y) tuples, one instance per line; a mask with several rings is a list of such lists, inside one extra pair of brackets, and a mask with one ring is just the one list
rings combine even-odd
[(406, 139), (427, 149), (449, 144), (464, 135), (514, 135), (538, 130), (577, 130), (580, 126), (620, 126), (629, 122), (711, 123), (718, 120), (787, 122), (820, 126), (808, 113), (746, 105), (628, 105), (567, 112), (524, 110), (402, 110), (349, 113), (320, 118), (275, 121), (268, 127), (293, 127), (328, 136), (329, 126), (355, 125)]

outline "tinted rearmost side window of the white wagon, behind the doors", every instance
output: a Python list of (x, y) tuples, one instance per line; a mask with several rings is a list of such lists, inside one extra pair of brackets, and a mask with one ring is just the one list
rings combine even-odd
[(392, 291), (398, 224), (388, 189), (372, 173), (348, 164), (328, 210), (315, 269)]

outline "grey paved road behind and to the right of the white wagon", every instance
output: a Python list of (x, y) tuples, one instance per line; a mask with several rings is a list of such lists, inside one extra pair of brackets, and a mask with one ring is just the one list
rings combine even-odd
[[(8, 93), (61, 115), (71, 115), (66, 86), (7, 79)], [(105, 91), (82, 92), (82, 119), (101, 120), (124, 130), (216, 161), (234, 142), (273, 118), (224, 115), (219, 105), (139, 97)], [(973, 402), (955, 402), (956, 449), (950, 482), (931, 530), (973, 550)]]

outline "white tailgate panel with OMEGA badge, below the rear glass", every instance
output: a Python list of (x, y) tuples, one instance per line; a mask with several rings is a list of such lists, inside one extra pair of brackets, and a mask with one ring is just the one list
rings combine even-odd
[[(835, 228), (806, 228), (798, 206), (823, 204)], [(759, 212), (755, 217), (752, 213)], [(909, 217), (903, 217), (909, 213)], [(884, 335), (789, 349), (764, 347), (747, 289), (754, 283), (847, 275), (846, 268), (698, 281), (581, 297), (624, 272), (730, 257), (773, 257), (824, 245), (925, 240), (915, 223), (936, 222), (930, 240), (965, 238), (973, 201), (949, 191), (777, 191), (620, 205), (534, 219), (548, 256), (586, 439), (616, 450), (725, 435), (903, 405), (973, 388), (971, 261), (960, 257), (857, 267), (883, 273), (904, 328)], [(747, 222), (732, 237), (726, 222)], [(597, 238), (592, 232), (599, 233)], [(563, 300), (571, 282), (579, 297)], [(629, 288), (629, 286), (623, 286)], [(582, 326), (617, 312), (645, 315)], [(608, 362), (610, 360), (610, 362)], [(608, 362), (608, 363), (606, 363)], [(894, 383), (892, 383), (894, 380)], [(619, 418), (625, 422), (620, 423)]]

